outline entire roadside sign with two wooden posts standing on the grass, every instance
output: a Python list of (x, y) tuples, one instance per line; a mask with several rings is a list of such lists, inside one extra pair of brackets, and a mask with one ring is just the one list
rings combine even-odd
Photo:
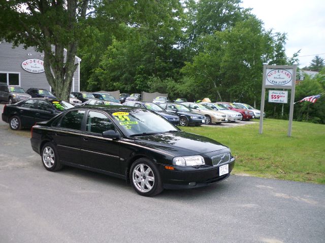
[[(266, 89), (278, 88), (278, 89), (291, 90), (288, 137), (291, 137), (291, 128), (292, 128), (293, 116), (294, 116), (296, 72), (297, 72), (297, 64), (295, 64), (295, 65), (264, 65), (264, 67), (263, 67), (261, 114), (264, 114)], [(270, 91), (269, 102), (287, 103), (287, 91), (279, 91), (279, 90)], [(259, 117), (259, 133), (260, 134), (263, 133), (263, 118), (264, 118), (263, 115), (261, 117)]]

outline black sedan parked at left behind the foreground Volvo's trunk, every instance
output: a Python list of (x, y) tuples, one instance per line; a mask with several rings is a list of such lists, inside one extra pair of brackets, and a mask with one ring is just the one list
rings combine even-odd
[(49, 120), (63, 110), (74, 107), (72, 104), (50, 98), (31, 98), (16, 104), (5, 105), (2, 119), (12, 130), (31, 128), (39, 121)]

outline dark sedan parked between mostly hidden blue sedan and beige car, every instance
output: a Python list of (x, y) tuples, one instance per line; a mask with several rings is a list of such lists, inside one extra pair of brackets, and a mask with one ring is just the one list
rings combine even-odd
[(190, 108), (185, 105), (178, 103), (163, 103), (159, 104), (163, 109), (173, 112), (179, 116), (179, 125), (186, 127), (188, 125), (199, 126), (206, 123), (204, 115), (193, 112)]

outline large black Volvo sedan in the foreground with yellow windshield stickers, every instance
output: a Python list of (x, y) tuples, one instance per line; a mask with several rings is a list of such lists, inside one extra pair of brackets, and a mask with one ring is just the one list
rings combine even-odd
[(228, 147), (124, 106), (64, 111), (32, 127), (30, 142), (48, 171), (68, 165), (112, 175), (145, 196), (224, 180), (235, 164)]

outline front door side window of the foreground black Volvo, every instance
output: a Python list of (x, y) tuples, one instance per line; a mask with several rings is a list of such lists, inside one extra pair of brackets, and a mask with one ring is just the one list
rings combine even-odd
[(103, 113), (89, 111), (87, 116), (86, 132), (102, 134), (108, 130), (114, 130), (112, 121)]

